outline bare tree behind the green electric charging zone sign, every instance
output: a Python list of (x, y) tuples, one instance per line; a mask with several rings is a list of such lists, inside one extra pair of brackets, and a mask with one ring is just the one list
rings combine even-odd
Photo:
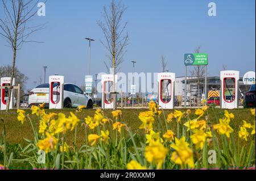
[[(200, 46), (195, 49), (195, 53), (200, 53)], [(199, 106), (199, 100), (200, 100), (200, 85), (201, 85), (201, 79), (203, 78), (205, 74), (205, 68), (204, 66), (196, 65), (194, 68), (190, 71), (191, 77), (197, 78), (197, 106)]]

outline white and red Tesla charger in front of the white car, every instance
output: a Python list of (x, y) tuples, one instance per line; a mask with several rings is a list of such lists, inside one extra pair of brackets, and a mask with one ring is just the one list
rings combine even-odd
[(49, 109), (62, 109), (64, 95), (64, 76), (49, 76)]

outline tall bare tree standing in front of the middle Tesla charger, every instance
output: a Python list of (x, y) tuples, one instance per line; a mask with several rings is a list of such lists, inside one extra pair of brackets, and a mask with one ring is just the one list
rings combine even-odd
[[(125, 32), (127, 22), (122, 23), (126, 9), (121, 1), (112, 0), (109, 9), (106, 6), (103, 8), (104, 22), (98, 21), (98, 26), (100, 26), (105, 36), (105, 42), (101, 41), (101, 43), (108, 50), (109, 62), (104, 63), (107, 69), (112, 68), (113, 75), (123, 62), (123, 55), (126, 53), (129, 40), (128, 33)], [(115, 89), (115, 76), (113, 87)], [(114, 96), (114, 109), (115, 103), (116, 96)]]

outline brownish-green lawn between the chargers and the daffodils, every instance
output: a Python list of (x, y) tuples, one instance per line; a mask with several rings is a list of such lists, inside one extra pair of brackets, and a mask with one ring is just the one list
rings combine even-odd
[[(26, 110), (28, 113), (30, 113), (30, 110)], [(80, 119), (84, 119), (86, 116), (93, 116), (94, 112), (96, 110), (82, 110), (81, 113), (77, 114), (77, 117)], [(141, 121), (138, 119), (139, 112), (147, 111), (143, 109), (135, 109), (135, 110), (122, 110), (123, 119), (122, 121), (126, 123), (134, 133), (143, 134), (143, 131), (138, 129), (139, 125), (141, 125)], [(182, 110), (185, 111), (185, 110)], [(191, 119), (193, 117), (197, 117), (194, 113), (195, 110), (191, 110)], [(69, 112), (75, 112), (75, 109), (64, 109), (64, 110), (46, 110), (47, 113), (49, 112), (63, 112), (65, 115), (69, 115)], [(112, 111), (111, 110), (104, 110), (104, 116), (112, 117)], [(162, 119), (164, 119), (164, 115), (167, 117), (167, 114), (170, 112), (174, 112), (174, 110), (164, 110), (163, 114), (160, 116)], [(235, 133), (238, 134), (238, 129), (240, 125), (242, 125), (242, 120), (246, 120), (248, 123), (254, 124), (253, 117), (251, 116), (250, 109), (238, 109), (238, 110), (229, 110), (229, 112), (232, 112), (235, 116), (234, 120), (230, 123), (230, 126), (235, 130)], [(221, 110), (219, 108), (209, 108), (208, 109), (208, 123), (210, 124), (216, 124), (218, 123), (218, 119), (222, 118), (224, 116), (224, 110)], [(39, 125), (39, 121), (36, 116), (31, 115), (32, 121), (34, 121), (37, 125)], [(204, 116), (203, 116), (204, 117)], [(26, 145), (26, 141), (23, 138), (28, 138), (32, 140), (33, 133), (30, 126), (30, 123), (28, 120), (25, 121), (25, 123), (22, 125), (17, 119), (16, 119), (16, 112), (14, 110), (10, 111), (9, 113), (6, 113), (4, 111), (0, 112), (0, 119), (3, 119), (6, 124), (6, 138), (7, 143), (12, 144), (20, 144), (20, 145)], [(183, 120), (184, 121), (184, 120)], [(0, 123), (0, 130), (2, 130), (3, 124)], [(172, 121), (170, 123), (170, 127), (172, 131), (176, 131), (177, 124), (175, 121)], [(68, 143), (72, 144), (74, 135), (73, 132), (69, 133), (67, 136)], [(84, 127), (79, 127), (77, 130), (77, 144), (81, 145), (84, 143)], [(238, 139), (238, 135), (236, 135), (236, 138)], [(246, 145), (245, 141), (240, 140), (240, 144)], [(246, 145), (247, 146), (247, 145)]]

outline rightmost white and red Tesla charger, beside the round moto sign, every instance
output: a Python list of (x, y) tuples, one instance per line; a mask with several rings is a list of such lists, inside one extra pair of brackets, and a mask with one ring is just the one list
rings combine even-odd
[(234, 109), (238, 108), (238, 89), (240, 72), (234, 70), (221, 71), (221, 108)]

